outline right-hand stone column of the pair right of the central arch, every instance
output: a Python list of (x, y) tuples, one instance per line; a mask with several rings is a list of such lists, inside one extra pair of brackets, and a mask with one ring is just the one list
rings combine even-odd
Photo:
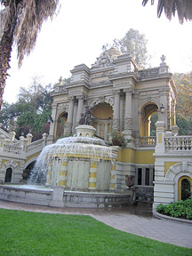
[(125, 89), (124, 131), (132, 130), (132, 88)]

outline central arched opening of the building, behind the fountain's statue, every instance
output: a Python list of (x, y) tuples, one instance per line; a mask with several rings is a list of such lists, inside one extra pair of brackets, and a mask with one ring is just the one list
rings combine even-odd
[(113, 118), (112, 107), (108, 103), (100, 103), (92, 109), (92, 116), (94, 116), (93, 127), (96, 128), (96, 136), (108, 140)]

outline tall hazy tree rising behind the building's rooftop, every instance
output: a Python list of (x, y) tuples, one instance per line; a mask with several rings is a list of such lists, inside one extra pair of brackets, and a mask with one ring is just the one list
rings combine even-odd
[[(114, 39), (113, 46), (123, 53), (131, 54), (133, 59), (141, 68), (145, 68), (148, 64), (149, 55), (147, 50), (148, 40), (144, 34), (140, 34), (138, 30), (130, 28), (122, 39)], [(102, 49), (107, 50), (108, 44), (103, 45)]]

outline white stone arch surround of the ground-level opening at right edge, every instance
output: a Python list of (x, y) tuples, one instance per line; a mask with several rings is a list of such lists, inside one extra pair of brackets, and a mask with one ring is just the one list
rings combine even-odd
[(173, 185), (173, 194), (174, 201), (178, 201), (180, 199), (180, 179), (188, 177), (189, 180), (192, 180), (192, 164), (188, 162), (182, 162), (179, 164), (172, 165), (168, 172), (165, 175), (164, 180), (172, 181)]

